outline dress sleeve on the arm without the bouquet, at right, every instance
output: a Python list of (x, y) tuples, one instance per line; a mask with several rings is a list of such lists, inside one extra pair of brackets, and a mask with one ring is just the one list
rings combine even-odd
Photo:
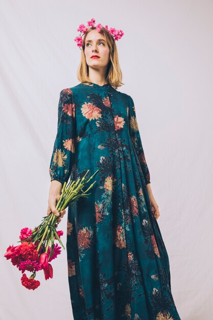
[(146, 184), (150, 184), (150, 172), (147, 166), (145, 154), (144, 154), (144, 149), (141, 143), (140, 139), (140, 133), (137, 125), (137, 118), (136, 118), (136, 113), (135, 113), (135, 106), (134, 106), (134, 101), (130, 97), (130, 104), (129, 104), (129, 133), (131, 137), (131, 141), (133, 144), (133, 147), (137, 153), (139, 163), (141, 170), (144, 174)]

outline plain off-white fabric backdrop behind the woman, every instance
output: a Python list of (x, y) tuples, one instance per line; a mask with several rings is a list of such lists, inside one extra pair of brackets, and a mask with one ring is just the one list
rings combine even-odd
[(1, 0), (0, 320), (73, 319), (65, 251), (35, 291), (3, 255), (46, 214), (59, 93), (79, 83), (74, 38), (91, 18), (125, 33), (119, 90), (135, 102), (181, 320), (212, 317), (212, 13), (207, 0)]

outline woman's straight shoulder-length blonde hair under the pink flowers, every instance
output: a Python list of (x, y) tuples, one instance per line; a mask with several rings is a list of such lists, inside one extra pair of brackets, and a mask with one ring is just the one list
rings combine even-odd
[[(90, 27), (84, 34), (83, 41), (82, 41), (81, 61), (77, 71), (78, 80), (88, 85), (89, 83), (91, 83), (91, 81), (88, 77), (89, 68), (86, 63), (86, 57), (84, 54), (85, 39), (87, 34), (94, 29), (96, 29), (96, 27)], [(120, 87), (124, 83), (122, 82), (123, 75), (119, 65), (119, 55), (117, 52), (116, 43), (112, 35), (105, 28), (102, 28), (100, 32), (104, 36), (105, 41), (107, 42), (107, 45), (109, 47), (110, 61), (107, 66), (106, 80), (107, 80), (107, 83), (111, 84), (111, 86), (117, 89), (117, 87)]]

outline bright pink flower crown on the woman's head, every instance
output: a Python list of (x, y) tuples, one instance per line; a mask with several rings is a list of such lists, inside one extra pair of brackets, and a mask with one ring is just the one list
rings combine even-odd
[[(106, 29), (111, 34), (111, 36), (114, 38), (114, 40), (119, 40), (124, 35), (124, 32), (122, 30), (116, 30), (115, 28), (108, 29), (108, 26), (103, 27), (101, 24), (98, 24), (97, 26), (95, 26), (94, 25), (95, 22), (96, 22), (96, 20), (92, 18), (91, 20), (87, 21), (87, 26), (88, 27), (96, 27), (96, 29), (99, 32), (101, 31), (101, 28)], [(86, 33), (87, 30), (88, 30), (88, 28), (85, 25), (80, 25), (78, 27), (77, 31), (80, 31), (80, 35), (74, 39), (74, 41), (77, 42), (78, 47), (82, 47), (82, 42), (83, 42), (82, 36)]]

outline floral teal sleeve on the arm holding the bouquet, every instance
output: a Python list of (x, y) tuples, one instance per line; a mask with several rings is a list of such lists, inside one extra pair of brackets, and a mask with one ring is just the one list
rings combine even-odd
[(60, 92), (58, 127), (50, 163), (50, 177), (62, 184), (68, 181), (75, 156), (75, 103), (70, 88)]

